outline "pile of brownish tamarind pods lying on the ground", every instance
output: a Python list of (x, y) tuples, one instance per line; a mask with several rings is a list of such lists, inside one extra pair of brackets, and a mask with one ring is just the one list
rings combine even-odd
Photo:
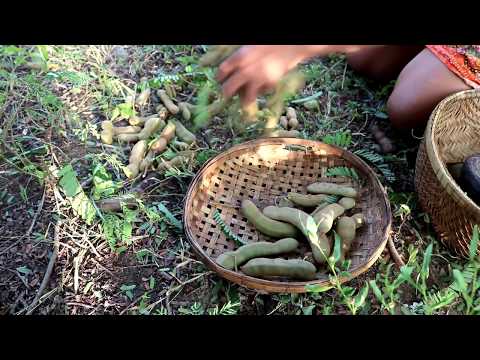
[[(151, 90), (142, 91), (135, 100), (135, 106), (144, 106), (150, 98)], [(101, 141), (111, 145), (113, 140), (134, 143), (129, 157), (129, 164), (124, 168), (128, 179), (137, 177), (140, 172), (147, 172), (153, 167), (155, 158), (167, 149), (168, 144), (175, 140), (175, 147), (183, 150), (169, 161), (159, 162), (156, 170), (162, 171), (185, 164), (189, 160), (191, 151), (188, 149), (196, 142), (195, 135), (190, 132), (176, 118), (169, 115), (180, 114), (185, 121), (189, 121), (194, 105), (186, 102), (175, 103), (175, 88), (165, 86), (157, 91), (162, 104), (156, 107), (156, 114), (128, 119), (128, 126), (115, 126), (112, 121), (102, 121), (100, 133)], [(151, 141), (150, 141), (151, 140)]]

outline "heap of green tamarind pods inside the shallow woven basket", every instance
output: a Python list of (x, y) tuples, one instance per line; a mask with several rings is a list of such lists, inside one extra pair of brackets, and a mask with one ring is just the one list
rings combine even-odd
[[(258, 278), (313, 280), (317, 278), (317, 267), (325, 266), (332, 254), (332, 230), (341, 241), (338, 263), (343, 262), (357, 229), (365, 222), (361, 213), (347, 215), (356, 205), (357, 190), (335, 183), (316, 182), (307, 186), (307, 192), (290, 192), (281, 199), (279, 206), (267, 206), (263, 210), (251, 200), (244, 199), (241, 212), (248, 222), (260, 233), (280, 240), (243, 245), (221, 254), (217, 263)], [(331, 203), (331, 195), (339, 197), (338, 202)], [(311, 259), (272, 258), (294, 253), (299, 240), (305, 239), (312, 250)]]

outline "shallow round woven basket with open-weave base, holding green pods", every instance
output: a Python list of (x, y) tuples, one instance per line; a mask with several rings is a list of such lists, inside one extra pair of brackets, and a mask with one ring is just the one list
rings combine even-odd
[[(363, 180), (358, 189), (349, 178), (325, 177), (327, 168), (350, 166)], [(310, 282), (271, 281), (227, 270), (216, 264), (234, 243), (220, 231), (213, 215), (219, 210), (223, 221), (249, 242), (268, 240), (240, 213), (242, 199), (250, 198), (259, 207), (276, 203), (289, 191), (305, 192), (306, 185), (332, 181), (357, 186), (359, 199), (353, 212), (361, 211), (366, 225), (352, 245), (350, 273), (365, 272), (382, 253), (390, 233), (391, 211), (385, 190), (375, 173), (357, 156), (335, 146), (302, 139), (259, 139), (237, 145), (206, 163), (187, 192), (184, 224), (193, 249), (202, 261), (220, 276), (242, 286), (263, 292), (302, 293), (306, 284), (328, 284), (328, 275), (320, 274)], [(299, 258), (309, 251), (302, 244)], [(342, 278), (341, 281), (349, 279)]]

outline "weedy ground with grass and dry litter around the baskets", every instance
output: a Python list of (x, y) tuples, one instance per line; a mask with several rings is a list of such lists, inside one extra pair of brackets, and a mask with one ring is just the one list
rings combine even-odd
[[(369, 82), (338, 56), (302, 65), (307, 85), (291, 100), (319, 100), (314, 110), (296, 105), (306, 138), (370, 154), (407, 265), (400, 271), (386, 249), (348, 284), (302, 295), (259, 294), (206, 269), (182, 232), (182, 199), (201, 164), (248, 134), (235, 134), (220, 114), (197, 132), (195, 162), (139, 185), (121, 172), (127, 153), (101, 144), (98, 133), (102, 120), (128, 112), (125, 98), (141, 89), (141, 79), (152, 88), (173, 83), (179, 98), (195, 102), (212, 81), (196, 65), (204, 52), (203, 46), (0, 47), (1, 314), (480, 312), (479, 262), (456, 258), (439, 244), (417, 205), (413, 179), (422, 133), (391, 131), (385, 102), (393, 83)], [(392, 155), (378, 154), (372, 123), (395, 142)], [(90, 199), (114, 196), (116, 190), (105, 192), (112, 185), (117, 192), (141, 186), (144, 206), (119, 216), (93, 208), (82, 218), (67, 201), (62, 175), (69, 179), (64, 187)], [(472, 235), (475, 247), (478, 233)]]

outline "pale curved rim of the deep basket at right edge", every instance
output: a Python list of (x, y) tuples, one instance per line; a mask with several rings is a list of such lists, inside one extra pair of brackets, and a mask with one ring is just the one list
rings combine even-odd
[[(480, 216), (480, 205), (477, 205), (470, 197), (465, 195), (460, 185), (457, 184), (455, 179), (448, 171), (446, 164), (440, 157), (440, 151), (435, 142), (435, 127), (437, 124), (437, 118), (439, 114), (447, 107), (451, 102), (461, 99), (480, 98), (480, 90), (470, 89), (460, 91), (458, 93), (447, 96), (443, 99), (433, 110), (428, 120), (427, 128), (425, 130), (425, 148), (428, 159), (432, 165), (433, 172), (438, 181), (444, 188), (444, 190), (452, 196), (453, 200), (460, 206), (467, 207), (470, 212), (476, 213)], [(446, 181), (444, 181), (446, 180)]]

